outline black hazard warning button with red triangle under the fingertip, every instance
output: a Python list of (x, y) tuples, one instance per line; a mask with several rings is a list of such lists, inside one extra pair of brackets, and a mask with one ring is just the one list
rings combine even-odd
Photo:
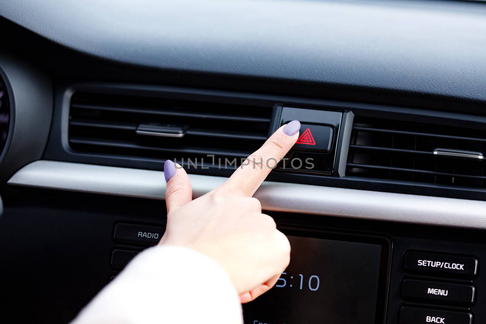
[(328, 153), (332, 148), (333, 129), (329, 126), (301, 124), (294, 151)]

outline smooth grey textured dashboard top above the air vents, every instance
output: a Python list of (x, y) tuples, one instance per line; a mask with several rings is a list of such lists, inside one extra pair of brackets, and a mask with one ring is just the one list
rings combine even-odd
[(137, 66), (486, 101), (486, 4), (2, 0), (0, 15)]

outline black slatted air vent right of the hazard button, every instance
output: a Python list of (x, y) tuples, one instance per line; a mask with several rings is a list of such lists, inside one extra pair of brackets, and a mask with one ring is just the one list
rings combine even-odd
[(486, 188), (485, 135), (484, 130), (356, 117), (346, 175)]

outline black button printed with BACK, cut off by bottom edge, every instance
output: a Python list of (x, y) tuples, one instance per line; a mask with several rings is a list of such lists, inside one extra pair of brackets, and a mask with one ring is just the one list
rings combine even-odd
[(401, 307), (400, 324), (471, 324), (471, 313), (448, 310)]

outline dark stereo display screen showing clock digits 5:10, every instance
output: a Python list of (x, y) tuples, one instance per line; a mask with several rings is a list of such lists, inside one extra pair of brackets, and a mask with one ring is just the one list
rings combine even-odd
[(290, 265), (245, 324), (374, 324), (382, 245), (289, 236)]

